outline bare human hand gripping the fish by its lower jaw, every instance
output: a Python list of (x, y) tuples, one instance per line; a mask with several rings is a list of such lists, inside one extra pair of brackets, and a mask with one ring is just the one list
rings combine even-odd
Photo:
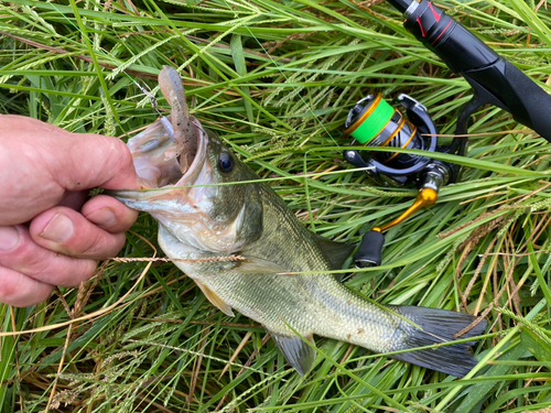
[(40, 303), (120, 251), (138, 213), (107, 195), (87, 200), (96, 186), (140, 187), (122, 141), (0, 116), (1, 303)]

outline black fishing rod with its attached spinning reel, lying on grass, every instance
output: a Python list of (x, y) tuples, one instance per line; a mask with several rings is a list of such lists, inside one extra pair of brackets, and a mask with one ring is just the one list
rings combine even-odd
[[(551, 142), (551, 97), (515, 65), (429, 0), (388, 0), (403, 14), (403, 26), (424, 46), (439, 56), (454, 74), (461, 74), (474, 89), (473, 98), (460, 110), (455, 138), (450, 145), (439, 146), (437, 129), (424, 106), (407, 95), (398, 100), (408, 119), (392, 109), (379, 95), (370, 95), (350, 110), (345, 123), (345, 137), (354, 145), (420, 149), (464, 155), (467, 145), (467, 122), (480, 106), (490, 104), (512, 115), (512, 118)], [(402, 222), (413, 213), (434, 204), (439, 189), (455, 182), (458, 166), (430, 156), (406, 153), (346, 151), (345, 159), (386, 185), (403, 186), (414, 182), (419, 193), (413, 205), (400, 217), (374, 227), (363, 237), (354, 256), (357, 267), (381, 263), (385, 242), (382, 231)]]

